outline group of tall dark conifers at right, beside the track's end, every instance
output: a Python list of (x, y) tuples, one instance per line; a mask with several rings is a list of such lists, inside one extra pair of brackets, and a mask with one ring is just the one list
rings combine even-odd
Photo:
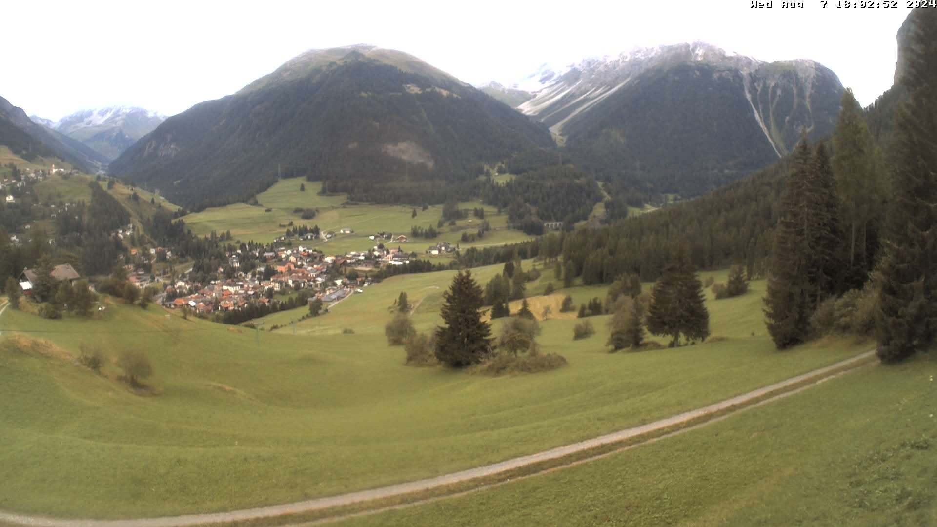
[[(797, 145), (765, 299), (767, 328), (781, 349), (810, 337), (811, 315), (825, 298), (868, 279), (877, 296), (875, 333), (883, 360), (927, 349), (937, 334), (937, 12), (919, 9), (913, 16), (919, 21), (901, 81), (908, 99), (888, 145), (890, 186), (882, 182), (881, 157), (849, 92), (832, 162), (822, 143), (812, 153), (806, 141)], [(876, 251), (872, 238), (883, 210)]]

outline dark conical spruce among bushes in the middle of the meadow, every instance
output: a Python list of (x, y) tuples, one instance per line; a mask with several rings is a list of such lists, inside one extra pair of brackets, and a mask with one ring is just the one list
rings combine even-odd
[(459, 271), (442, 294), (442, 321), (436, 329), (436, 358), (453, 367), (476, 364), (491, 351), (491, 325), (482, 320), (482, 288), (470, 271)]

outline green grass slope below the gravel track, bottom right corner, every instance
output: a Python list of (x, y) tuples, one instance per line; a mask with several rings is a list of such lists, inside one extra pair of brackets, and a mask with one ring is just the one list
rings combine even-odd
[(341, 525), (937, 525), (937, 355), (685, 434)]

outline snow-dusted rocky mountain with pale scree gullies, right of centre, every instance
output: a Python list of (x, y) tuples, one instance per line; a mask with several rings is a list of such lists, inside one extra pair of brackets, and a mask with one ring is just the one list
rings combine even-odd
[(844, 88), (811, 60), (766, 63), (702, 42), (543, 65), (483, 91), (550, 128), (597, 175), (702, 193), (832, 131)]

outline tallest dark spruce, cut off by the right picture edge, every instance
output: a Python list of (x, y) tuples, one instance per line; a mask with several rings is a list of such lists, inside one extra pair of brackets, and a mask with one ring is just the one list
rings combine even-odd
[(895, 120), (893, 195), (875, 275), (875, 332), (885, 361), (925, 349), (937, 331), (937, 11), (911, 16), (919, 20), (903, 79), (909, 98)]

